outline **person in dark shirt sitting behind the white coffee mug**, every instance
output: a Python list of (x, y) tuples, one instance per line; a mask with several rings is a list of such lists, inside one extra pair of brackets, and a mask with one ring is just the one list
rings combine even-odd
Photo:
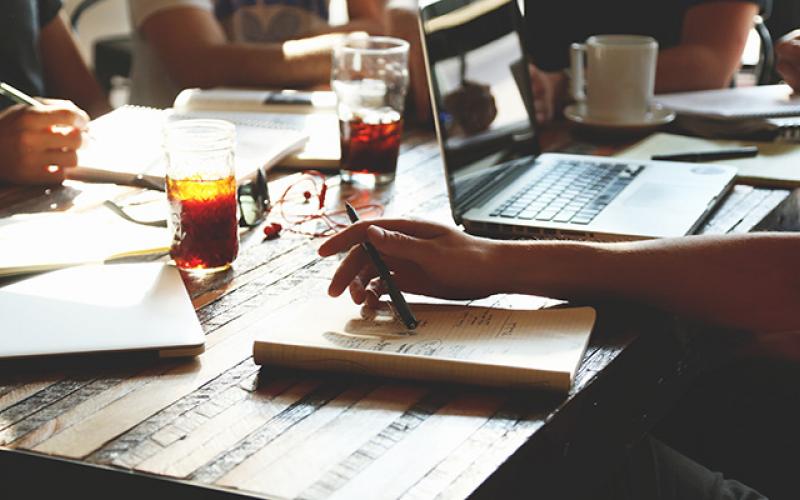
[(648, 35), (659, 43), (656, 93), (722, 88), (739, 67), (764, 1), (525, 1), (537, 119), (566, 103), (569, 47), (598, 34)]

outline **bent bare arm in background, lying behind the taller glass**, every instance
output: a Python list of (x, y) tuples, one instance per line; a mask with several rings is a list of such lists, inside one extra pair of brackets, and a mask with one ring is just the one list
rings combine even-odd
[(213, 14), (195, 7), (159, 11), (140, 30), (181, 87), (291, 87), (327, 82), (331, 49), (341, 38), (330, 34), (284, 43), (233, 43)]

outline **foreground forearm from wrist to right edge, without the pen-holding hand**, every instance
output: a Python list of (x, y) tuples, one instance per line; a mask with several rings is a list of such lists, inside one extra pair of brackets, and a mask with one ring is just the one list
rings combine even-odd
[(758, 332), (800, 331), (800, 238), (696, 236), (646, 242), (497, 244), (506, 292), (642, 302)]

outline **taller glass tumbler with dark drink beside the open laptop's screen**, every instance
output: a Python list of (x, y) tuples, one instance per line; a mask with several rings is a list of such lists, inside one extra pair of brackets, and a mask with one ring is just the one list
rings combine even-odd
[(350, 35), (333, 50), (344, 182), (394, 180), (408, 89), (408, 42)]

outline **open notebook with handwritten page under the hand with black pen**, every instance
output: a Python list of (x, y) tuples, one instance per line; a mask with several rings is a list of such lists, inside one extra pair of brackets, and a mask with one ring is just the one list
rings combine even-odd
[(590, 307), (510, 310), (412, 304), (407, 331), (348, 298), (287, 307), (255, 341), (256, 363), (567, 392), (594, 325)]

